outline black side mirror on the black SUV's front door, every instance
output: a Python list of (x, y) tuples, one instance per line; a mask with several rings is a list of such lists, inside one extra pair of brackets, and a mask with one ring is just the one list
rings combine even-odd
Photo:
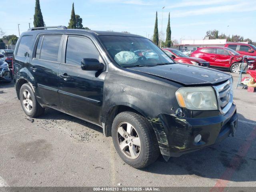
[(100, 63), (98, 59), (83, 58), (81, 60), (81, 68), (85, 71), (100, 71), (104, 69), (104, 64)]

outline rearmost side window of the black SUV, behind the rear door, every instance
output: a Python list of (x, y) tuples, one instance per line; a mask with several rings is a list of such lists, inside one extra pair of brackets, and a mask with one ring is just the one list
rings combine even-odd
[(20, 44), (19, 44), (18, 51), (17, 51), (17, 56), (29, 57), (31, 46), (32, 46), (32, 35), (23, 36), (20, 40)]

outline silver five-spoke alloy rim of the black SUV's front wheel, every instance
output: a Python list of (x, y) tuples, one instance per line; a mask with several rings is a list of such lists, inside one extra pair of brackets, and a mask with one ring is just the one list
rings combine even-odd
[(120, 150), (130, 158), (136, 159), (140, 155), (141, 143), (136, 129), (127, 122), (122, 122), (116, 130), (116, 139)]

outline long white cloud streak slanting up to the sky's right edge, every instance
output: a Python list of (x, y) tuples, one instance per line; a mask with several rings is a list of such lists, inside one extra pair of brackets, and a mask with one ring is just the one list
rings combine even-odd
[(256, 10), (256, 4), (246, 2), (246, 3), (238, 3), (233, 5), (200, 8), (200, 9), (194, 9), (189, 11), (177, 10), (177, 11), (171, 12), (171, 17), (177, 18), (177, 17), (186, 17), (186, 16), (195, 16), (195, 15), (220, 14), (220, 13), (228, 13), (228, 12), (248, 12), (248, 11), (255, 11), (255, 10)]

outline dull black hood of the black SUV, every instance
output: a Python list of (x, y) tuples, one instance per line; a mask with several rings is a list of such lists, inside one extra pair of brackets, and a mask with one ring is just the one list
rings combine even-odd
[(216, 84), (231, 78), (229, 74), (224, 72), (190, 64), (169, 64), (154, 67), (134, 67), (130, 69), (184, 85)]

